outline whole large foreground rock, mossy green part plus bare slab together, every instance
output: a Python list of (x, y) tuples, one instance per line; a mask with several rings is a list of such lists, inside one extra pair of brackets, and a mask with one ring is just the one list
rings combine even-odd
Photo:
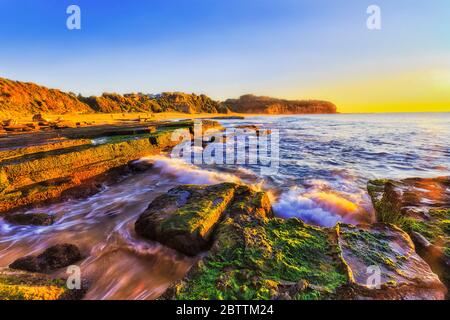
[[(189, 186), (178, 188), (178, 200), (167, 203), (185, 204), (183, 188)], [(158, 212), (157, 207), (154, 210)], [(235, 187), (215, 224), (211, 249), (163, 299), (442, 299), (445, 295), (445, 287), (415, 253), (409, 236), (392, 225), (320, 228), (295, 218), (274, 218), (267, 195), (245, 186)], [(374, 265), (380, 270), (379, 287), (368, 285), (367, 270)]]

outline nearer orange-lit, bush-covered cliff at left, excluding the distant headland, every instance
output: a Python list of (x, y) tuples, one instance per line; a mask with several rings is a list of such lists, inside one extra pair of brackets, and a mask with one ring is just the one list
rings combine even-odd
[(121, 113), (121, 112), (183, 112), (222, 113), (227, 111), (219, 102), (205, 95), (164, 92), (104, 93), (83, 97), (49, 89), (34, 83), (0, 78), (0, 118), (35, 114)]

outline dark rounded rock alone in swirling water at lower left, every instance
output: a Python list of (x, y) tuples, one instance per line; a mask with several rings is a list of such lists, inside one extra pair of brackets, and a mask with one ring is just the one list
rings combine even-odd
[(81, 253), (73, 244), (58, 244), (37, 256), (26, 256), (14, 261), (11, 269), (30, 272), (48, 272), (64, 268), (81, 260)]

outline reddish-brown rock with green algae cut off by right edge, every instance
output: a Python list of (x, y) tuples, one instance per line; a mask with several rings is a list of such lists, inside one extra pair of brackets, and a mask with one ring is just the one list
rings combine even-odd
[(417, 252), (450, 286), (450, 177), (375, 180), (368, 184), (377, 218), (410, 234)]

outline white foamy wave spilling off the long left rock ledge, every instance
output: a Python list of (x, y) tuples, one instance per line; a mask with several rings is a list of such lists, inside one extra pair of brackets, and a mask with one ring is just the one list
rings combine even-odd
[(160, 174), (174, 177), (181, 184), (240, 182), (240, 179), (235, 175), (200, 169), (180, 159), (152, 156), (141, 158), (139, 161), (152, 163), (153, 168), (159, 170)]

